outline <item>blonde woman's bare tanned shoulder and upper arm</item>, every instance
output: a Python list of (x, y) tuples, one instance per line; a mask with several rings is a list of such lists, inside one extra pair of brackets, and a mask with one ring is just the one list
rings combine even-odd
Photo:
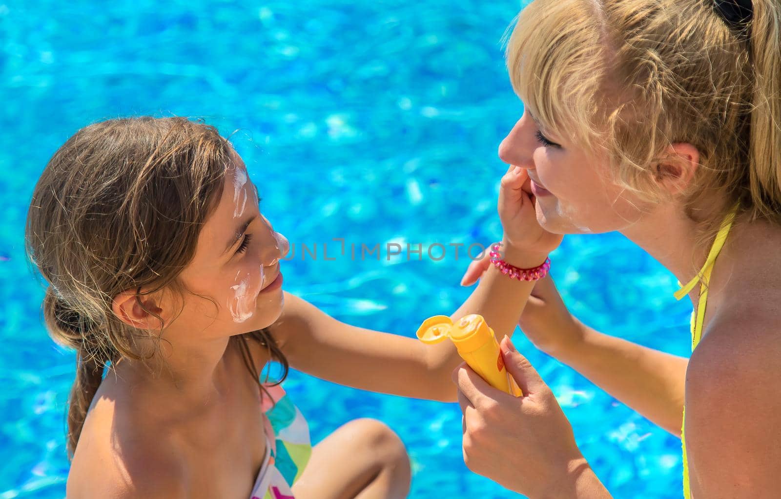
[(769, 303), (735, 297), (720, 307), (686, 370), (686, 452), (711, 489), (778, 485), (768, 463), (781, 459), (781, 321)]

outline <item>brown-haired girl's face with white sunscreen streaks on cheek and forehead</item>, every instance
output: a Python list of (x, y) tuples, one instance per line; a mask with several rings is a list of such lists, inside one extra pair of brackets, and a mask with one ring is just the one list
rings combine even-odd
[(279, 318), (284, 302), (280, 258), (288, 244), (261, 215), (258, 202), (244, 162), (234, 153), (219, 205), (181, 274), (192, 294), (185, 294), (175, 322), (183, 322), (187, 333), (226, 337), (262, 329)]

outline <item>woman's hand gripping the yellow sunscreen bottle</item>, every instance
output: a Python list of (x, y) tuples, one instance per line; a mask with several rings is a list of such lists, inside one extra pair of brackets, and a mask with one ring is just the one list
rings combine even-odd
[(590, 480), (590, 488), (598, 480), (580, 454), (572, 426), (551, 389), (508, 337), (502, 340), (501, 350), (522, 397), (491, 387), (465, 364), (453, 372), (464, 413), (467, 467), (533, 499), (597, 497), (576, 493), (583, 479)]

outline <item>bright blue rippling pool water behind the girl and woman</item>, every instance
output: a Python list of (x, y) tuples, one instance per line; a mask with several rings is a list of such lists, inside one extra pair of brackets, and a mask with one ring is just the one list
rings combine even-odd
[[(202, 116), (234, 142), (277, 230), (319, 244), (284, 267), (288, 290), (357, 326), (412, 335), (468, 296), (468, 260), (338, 254), (373, 245), (500, 237), (497, 144), (522, 112), (501, 36), (517, 0), (116, 0), (0, 5), (0, 499), (63, 497), (73, 354), (41, 326), (43, 288), (23, 256), (41, 169), (79, 127), (114, 116)], [(437, 256), (435, 253), (434, 256)], [(680, 355), (690, 307), (675, 279), (617, 234), (568, 237), (553, 274), (597, 329)], [(604, 262), (608, 262), (604, 266)], [(558, 396), (615, 497), (680, 497), (679, 440), (571, 369), (515, 343)], [(291, 373), (322, 439), (358, 417), (408, 446), (411, 497), (519, 497), (462, 462), (455, 405), (368, 394)]]

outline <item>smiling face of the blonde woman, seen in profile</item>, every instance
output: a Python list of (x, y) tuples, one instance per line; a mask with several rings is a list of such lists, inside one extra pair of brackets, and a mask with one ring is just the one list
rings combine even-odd
[(501, 142), (499, 157), (528, 170), (545, 230), (602, 233), (640, 219), (644, 204), (612, 183), (605, 159), (588, 157), (556, 130), (541, 130), (529, 109)]

